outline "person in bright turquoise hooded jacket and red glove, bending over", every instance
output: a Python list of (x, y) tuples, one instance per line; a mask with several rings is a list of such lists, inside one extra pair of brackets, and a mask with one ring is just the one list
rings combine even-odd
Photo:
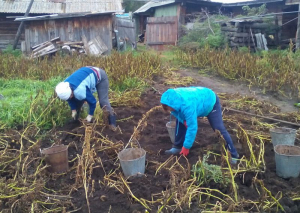
[(165, 111), (170, 111), (176, 117), (175, 142), (166, 154), (187, 156), (196, 138), (197, 118), (206, 116), (212, 129), (219, 130), (223, 135), (232, 163), (237, 162), (239, 155), (223, 124), (220, 100), (214, 91), (205, 87), (168, 89), (162, 94), (160, 102)]

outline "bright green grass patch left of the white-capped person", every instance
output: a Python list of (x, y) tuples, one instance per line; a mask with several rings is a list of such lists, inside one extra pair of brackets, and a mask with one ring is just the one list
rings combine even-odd
[[(51, 78), (47, 81), (0, 79), (0, 91), (4, 96), (4, 99), (0, 100), (0, 126), (16, 127), (37, 121), (46, 128), (50, 127), (55, 121), (56, 113), (51, 112), (52, 115), (46, 113), (51, 117), (50, 124), (39, 118), (38, 113), (42, 113), (47, 108), (56, 84), (62, 80), (61, 77)], [(35, 100), (39, 100), (39, 102), (37, 103)], [(50, 111), (51, 109), (53, 106), (49, 108)]]

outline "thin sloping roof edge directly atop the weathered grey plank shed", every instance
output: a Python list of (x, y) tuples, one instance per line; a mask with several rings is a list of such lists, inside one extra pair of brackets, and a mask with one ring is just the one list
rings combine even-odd
[(26, 18), (16, 18), (15, 21), (38, 21), (38, 20), (47, 20), (47, 19), (63, 19), (63, 18), (73, 18), (73, 17), (106, 15), (106, 14), (113, 14), (113, 13), (114, 11), (96, 12), (96, 13), (63, 13), (63, 14), (52, 14), (52, 15), (44, 15), (44, 16), (33, 16), (33, 17), (26, 17)]

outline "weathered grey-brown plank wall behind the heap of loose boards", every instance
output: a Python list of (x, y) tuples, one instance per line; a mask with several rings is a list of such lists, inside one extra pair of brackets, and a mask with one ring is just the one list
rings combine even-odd
[(112, 49), (112, 15), (27, 22), (25, 27), (26, 52), (30, 53), (32, 46), (55, 37), (60, 37), (61, 41), (82, 41), (82, 35), (85, 35), (88, 41), (100, 36), (110, 51)]

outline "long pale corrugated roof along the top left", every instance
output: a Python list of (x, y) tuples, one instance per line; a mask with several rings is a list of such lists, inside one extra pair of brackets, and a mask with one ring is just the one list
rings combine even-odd
[[(0, 0), (0, 13), (25, 13), (30, 0)], [(35, 0), (30, 13), (79, 13), (122, 11), (122, 0), (65, 0), (64, 3)]]

